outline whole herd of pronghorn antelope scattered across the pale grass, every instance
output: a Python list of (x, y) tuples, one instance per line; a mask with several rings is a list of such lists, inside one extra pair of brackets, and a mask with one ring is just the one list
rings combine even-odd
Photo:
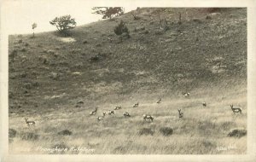
[[(190, 96), (189, 92), (183, 92), (183, 97), (188, 98), (189, 96)], [(161, 102), (162, 102), (161, 98), (158, 101), (156, 101), (157, 104), (160, 104)], [(79, 101), (78, 103), (84, 103), (84, 102), (83, 101)], [(206, 101), (203, 101), (201, 104), (202, 104), (203, 107), (207, 107), (207, 102)], [(139, 102), (135, 103), (132, 107), (133, 108), (139, 107)], [(231, 107), (231, 110), (232, 110), (233, 113), (241, 113), (241, 108), (240, 107), (234, 107), (233, 104), (231, 104), (230, 107)], [(109, 110), (108, 111), (108, 115), (114, 115), (115, 111), (117, 111), (119, 109), (122, 109), (122, 107), (118, 106), (118, 107), (115, 107), (113, 110)], [(96, 115), (97, 110), (98, 110), (98, 107), (96, 107), (95, 110), (90, 112), (90, 116)], [(182, 112), (182, 110), (181, 109), (177, 109), (177, 112), (178, 112), (178, 118), (179, 119), (183, 119), (184, 113)], [(98, 121), (102, 121), (105, 118), (106, 114), (107, 114), (106, 112), (103, 112), (102, 116), (99, 116), (96, 119)], [(125, 118), (131, 117), (130, 113), (128, 113), (128, 112), (124, 112), (123, 116)], [(143, 120), (147, 121), (147, 122), (153, 122), (154, 121), (154, 117), (152, 115), (149, 115), (149, 114), (143, 114)], [(25, 118), (25, 121), (26, 121), (26, 124), (28, 126), (31, 126), (31, 125), (35, 126), (35, 124), (36, 124), (35, 121), (29, 121), (26, 118)]]

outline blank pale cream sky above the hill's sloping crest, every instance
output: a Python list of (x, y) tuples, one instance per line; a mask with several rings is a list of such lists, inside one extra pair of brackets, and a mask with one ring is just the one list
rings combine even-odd
[[(96, 1), (96, 0), (95, 0)], [(106, 3), (97, 3), (88, 0), (9, 0), (3, 4), (3, 25), (8, 34), (32, 33), (32, 23), (37, 23), (35, 32), (55, 31), (55, 26), (49, 24), (56, 16), (71, 14), (77, 26), (102, 20), (102, 15), (91, 14), (92, 7), (104, 7)], [(113, 6), (115, 7), (115, 6)], [(125, 12), (136, 9), (135, 6), (121, 6)]]

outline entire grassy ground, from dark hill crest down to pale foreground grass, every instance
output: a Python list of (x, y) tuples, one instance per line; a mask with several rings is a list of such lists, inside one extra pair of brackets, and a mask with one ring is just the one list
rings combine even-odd
[[(69, 38), (55, 32), (9, 36), (9, 128), (18, 131), (11, 151), (62, 143), (93, 153), (246, 153), (246, 136), (227, 136), (231, 129), (247, 128), (246, 9), (213, 14), (209, 9), (138, 9), (134, 14), (140, 19), (127, 13), (78, 26)], [(169, 30), (160, 29), (159, 15)], [(131, 38), (121, 41), (114, 34), (119, 20)], [(184, 98), (183, 91), (191, 96)], [(132, 108), (137, 101), (140, 106)], [(231, 103), (242, 114), (233, 114)], [(122, 109), (96, 120), (115, 106)], [(90, 116), (95, 107), (98, 113)], [(125, 119), (124, 111), (131, 118)], [(154, 122), (143, 121), (144, 113)], [(25, 117), (37, 126), (27, 128)], [(160, 133), (165, 126), (172, 136)], [(140, 136), (143, 128), (154, 135)], [(65, 129), (73, 134), (57, 135)], [(24, 139), (28, 132), (37, 139)], [(216, 149), (229, 145), (237, 148)]]

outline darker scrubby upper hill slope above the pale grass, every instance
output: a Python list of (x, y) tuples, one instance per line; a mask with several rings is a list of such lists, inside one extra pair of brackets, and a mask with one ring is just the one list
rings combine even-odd
[[(196, 88), (246, 84), (245, 9), (223, 9), (212, 19), (206, 19), (207, 9), (134, 12), (140, 20), (127, 13), (75, 28), (73, 43), (61, 41), (54, 32), (39, 33), (36, 38), (10, 36), (9, 54), (18, 51), (14, 61), (9, 59), (11, 105), (13, 101), (18, 105), (26, 101), (27, 107), (38, 101), (45, 104), (46, 95), (62, 93), (68, 94), (68, 100), (91, 95), (89, 100), (96, 100), (111, 94), (164, 90), (180, 95)], [(166, 18), (170, 30), (160, 30), (158, 15)], [(131, 32), (131, 38), (121, 43), (113, 33), (119, 20)], [(96, 55), (99, 61), (90, 61)]]

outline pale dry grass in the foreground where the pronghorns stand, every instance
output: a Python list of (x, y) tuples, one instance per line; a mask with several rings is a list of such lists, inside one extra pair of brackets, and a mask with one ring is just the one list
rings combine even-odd
[[(242, 89), (241, 89), (242, 90)], [(20, 153), (24, 148), (31, 148), (29, 153), (44, 153), (37, 151), (38, 147), (53, 148), (60, 143), (72, 147), (93, 149), (87, 152), (65, 153), (178, 153), (178, 154), (208, 154), (208, 153), (246, 153), (247, 137), (229, 137), (228, 133), (234, 128), (247, 129), (247, 100), (246, 94), (236, 91), (240, 95), (230, 95), (232, 90), (225, 90), (228, 99), (218, 101), (217, 94), (210, 94), (211, 90), (198, 92), (204, 95), (208, 106), (202, 107), (202, 97), (191, 96), (189, 99), (177, 96), (176, 98), (163, 97), (159, 105), (155, 101), (141, 101), (140, 106), (132, 108), (133, 102), (119, 101), (122, 109), (115, 115), (107, 116), (98, 122), (96, 116), (113, 109), (111, 105), (102, 102), (96, 116), (90, 116), (92, 109), (81, 108), (79, 111), (70, 111), (62, 107), (58, 111), (31, 117), (37, 126), (28, 128), (20, 115), (10, 117), (9, 127), (18, 131), (33, 132), (39, 135), (38, 140), (22, 140), (19, 136), (11, 142), (10, 151)], [(139, 96), (137, 96), (139, 98)], [(237, 101), (239, 100), (239, 101)], [(241, 105), (242, 114), (233, 114), (230, 103)], [(122, 104), (125, 103), (125, 104)], [(100, 103), (100, 101), (98, 101)], [(184, 113), (183, 119), (178, 119), (177, 108)], [(127, 111), (131, 118), (124, 118), (122, 113)], [(143, 113), (155, 117), (154, 122), (143, 121)], [(163, 136), (161, 127), (173, 129), (171, 136)], [(150, 129), (154, 134), (140, 134), (140, 130)], [(71, 136), (61, 136), (57, 132), (71, 130)], [(62, 145), (61, 145), (62, 146)], [(234, 149), (220, 151), (218, 147), (235, 146)], [(20, 148), (20, 149), (19, 149)], [(54, 147), (55, 148), (55, 147)], [(48, 153), (48, 152), (46, 152)]]

